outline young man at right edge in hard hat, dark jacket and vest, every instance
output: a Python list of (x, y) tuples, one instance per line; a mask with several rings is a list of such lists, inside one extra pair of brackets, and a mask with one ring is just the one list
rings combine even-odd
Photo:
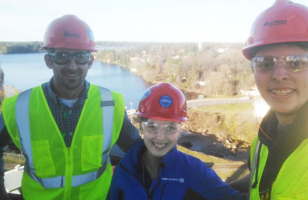
[[(255, 19), (243, 49), (270, 106), (250, 174), (230, 183), (253, 200), (308, 199), (308, 8), (277, 0)], [(244, 188), (243, 188), (244, 187)]]

